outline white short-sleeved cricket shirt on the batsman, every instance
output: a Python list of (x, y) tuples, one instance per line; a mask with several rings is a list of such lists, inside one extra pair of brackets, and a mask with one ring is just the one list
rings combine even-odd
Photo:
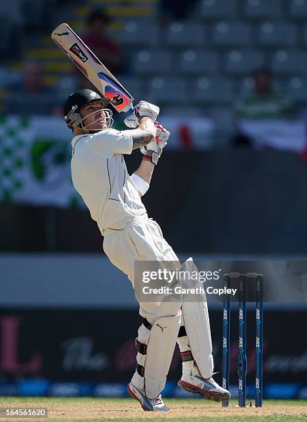
[(129, 130), (100, 130), (72, 139), (72, 182), (101, 233), (147, 215), (123, 158), (132, 147)]

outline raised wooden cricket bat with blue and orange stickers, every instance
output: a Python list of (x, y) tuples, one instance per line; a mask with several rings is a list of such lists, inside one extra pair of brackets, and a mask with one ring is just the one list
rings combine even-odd
[(119, 83), (114, 75), (101, 63), (96, 55), (78, 37), (76, 32), (61, 23), (51, 34), (54, 42), (65, 52), (97, 90), (111, 100), (112, 106), (118, 112), (128, 112), (132, 109), (134, 97)]

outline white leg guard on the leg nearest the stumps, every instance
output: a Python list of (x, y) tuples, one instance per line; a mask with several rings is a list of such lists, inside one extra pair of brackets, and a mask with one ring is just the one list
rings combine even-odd
[[(193, 259), (189, 258), (182, 264), (182, 270), (194, 272), (198, 271), (198, 268), (193, 263)], [(200, 285), (202, 284), (200, 283)], [(187, 352), (192, 353), (191, 359), (197, 364), (202, 377), (208, 379), (213, 374), (213, 356), (207, 301), (200, 294), (197, 297), (193, 295), (193, 297), (195, 297), (195, 301), (191, 301), (191, 297), (189, 297), (190, 301), (184, 300), (184, 297), (182, 298), (182, 316), (187, 333), (186, 342), (189, 344), (190, 349)], [(181, 344), (183, 348), (184, 340), (181, 341)]]

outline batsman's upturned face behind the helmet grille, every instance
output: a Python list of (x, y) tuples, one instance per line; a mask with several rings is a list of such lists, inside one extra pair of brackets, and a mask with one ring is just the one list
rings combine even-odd
[(94, 101), (93, 103), (89, 103), (87, 106), (81, 108), (80, 114), (83, 119), (83, 128), (87, 128), (89, 130), (107, 129), (109, 117), (103, 108), (103, 103), (100, 101)]

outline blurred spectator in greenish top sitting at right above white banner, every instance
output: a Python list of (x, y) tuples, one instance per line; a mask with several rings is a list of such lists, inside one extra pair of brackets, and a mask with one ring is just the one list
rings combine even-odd
[[(260, 68), (253, 72), (253, 92), (235, 103), (235, 120), (289, 119), (293, 117), (293, 103), (286, 94), (273, 89), (271, 71)], [(235, 145), (250, 145), (246, 135), (237, 133)]]

